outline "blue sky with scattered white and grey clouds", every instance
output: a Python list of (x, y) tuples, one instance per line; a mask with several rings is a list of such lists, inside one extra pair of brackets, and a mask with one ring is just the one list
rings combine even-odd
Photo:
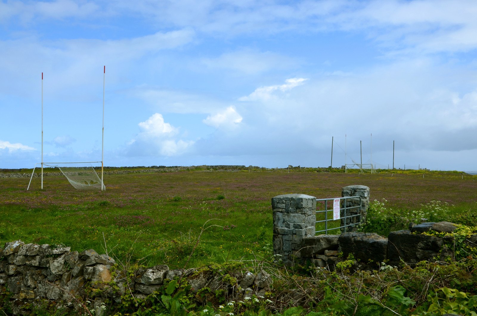
[[(474, 0), (0, 1), (0, 168), (476, 170)], [(43, 73), (43, 81), (41, 81)], [(372, 136), (371, 136), (372, 135)], [(346, 155), (345, 155), (346, 151)]]

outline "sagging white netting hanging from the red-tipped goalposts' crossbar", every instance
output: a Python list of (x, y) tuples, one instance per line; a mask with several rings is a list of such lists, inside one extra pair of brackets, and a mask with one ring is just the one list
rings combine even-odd
[[(83, 163), (81, 165), (75, 162), (43, 163), (43, 166), (60, 169), (71, 185), (78, 190), (101, 190), (101, 179), (91, 163)], [(104, 183), (103, 190), (106, 190)]]

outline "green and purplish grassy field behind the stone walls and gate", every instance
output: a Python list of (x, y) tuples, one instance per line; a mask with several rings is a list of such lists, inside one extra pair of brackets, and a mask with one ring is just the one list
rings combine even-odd
[(333, 198), (342, 187), (361, 184), (390, 208), (418, 210), (440, 200), (460, 212), (476, 210), (476, 180), (456, 172), (199, 170), (106, 175), (101, 192), (76, 190), (60, 176), (45, 177), (44, 190), (34, 178), (29, 191), (29, 178), (0, 178), (0, 244), (21, 239), (101, 253), (105, 240), (119, 260), (193, 267), (271, 253), (270, 199), (276, 195)]

